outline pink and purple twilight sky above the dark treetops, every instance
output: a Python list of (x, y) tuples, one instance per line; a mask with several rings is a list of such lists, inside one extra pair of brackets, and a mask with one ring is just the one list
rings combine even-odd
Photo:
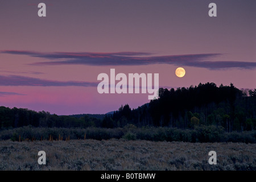
[[(40, 2), (46, 17), (38, 16)], [(211, 2), (217, 17), (208, 16)], [(104, 114), (148, 102), (148, 93), (99, 94), (97, 76), (110, 68), (159, 73), (168, 89), (254, 89), (255, 10), (255, 0), (1, 0), (0, 106)]]

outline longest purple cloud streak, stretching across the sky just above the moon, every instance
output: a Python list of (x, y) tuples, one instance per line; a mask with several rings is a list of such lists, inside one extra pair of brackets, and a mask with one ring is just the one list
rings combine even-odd
[[(214, 57), (222, 56), (222, 53), (203, 53), (191, 55), (167, 55), (153, 56), (149, 52), (33, 52), (33, 51), (1, 51), (1, 53), (10, 53), (16, 55), (28, 55), (32, 57), (41, 57), (47, 61), (32, 63), (32, 65), (149, 65), (149, 64), (172, 64), (179, 66), (189, 66), (207, 69), (222, 68), (243, 68), (254, 69), (255, 62), (245, 61), (210, 61)], [(51, 61), (49, 61), (51, 60)]]

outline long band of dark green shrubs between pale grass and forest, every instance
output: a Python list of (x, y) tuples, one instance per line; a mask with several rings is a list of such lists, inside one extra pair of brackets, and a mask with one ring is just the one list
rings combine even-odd
[(177, 129), (168, 127), (142, 127), (138, 128), (134, 125), (127, 125), (125, 128), (105, 129), (97, 127), (81, 128), (46, 128), (24, 126), (15, 129), (1, 130), (0, 139), (18, 141), (21, 139), (48, 139), (51, 135), (53, 140), (59, 139), (59, 135), (65, 140), (70, 139), (120, 139), (128, 140), (151, 140), (167, 142), (242, 142), (256, 143), (256, 131), (243, 131), (241, 133), (232, 132), (225, 133), (222, 127), (216, 126), (197, 126), (196, 129)]

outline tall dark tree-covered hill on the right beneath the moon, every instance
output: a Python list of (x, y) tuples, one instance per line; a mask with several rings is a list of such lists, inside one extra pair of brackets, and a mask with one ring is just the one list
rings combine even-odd
[[(141, 126), (177, 127), (221, 126), (225, 131), (256, 129), (256, 89), (237, 89), (233, 84), (216, 86), (207, 82), (189, 88), (159, 89), (159, 98), (138, 109), (121, 106), (111, 118), (112, 126), (127, 123)], [(111, 122), (110, 122), (111, 123)]]

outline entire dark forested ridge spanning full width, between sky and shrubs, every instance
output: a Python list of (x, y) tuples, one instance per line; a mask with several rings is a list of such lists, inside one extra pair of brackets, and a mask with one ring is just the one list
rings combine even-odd
[(0, 130), (34, 127), (171, 127), (194, 129), (197, 126), (223, 127), (226, 132), (256, 129), (256, 89), (237, 89), (233, 84), (214, 83), (189, 88), (159, 89), (159, 98), (137, 109), (121, 106), (106, 115), (56, 115), (0, 107)]

